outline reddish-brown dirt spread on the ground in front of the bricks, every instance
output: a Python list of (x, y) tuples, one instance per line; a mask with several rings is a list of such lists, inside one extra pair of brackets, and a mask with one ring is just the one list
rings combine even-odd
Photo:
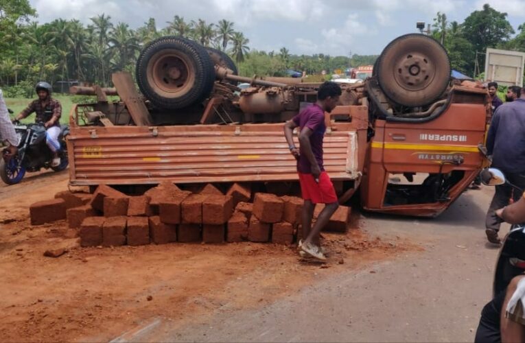
[[(421, 250), (352, 229), (324, 234), (326, 265), (295, 248), (249, 242), (79, 248), (65, 221), (31, 226), (28, 205), (66, 189), (0, 201), (0, 332), (4, 341), (110, 340), (155, 316), (183, 324), (218, 309), (246, 309), (298, 292), (314, 276), (364, 268)], [(355, 218), (355, 217), (354, 217)], [(353, 226), (357, 224), (353, 222)], [(46, 250), (64, 248), (58, 257)]]

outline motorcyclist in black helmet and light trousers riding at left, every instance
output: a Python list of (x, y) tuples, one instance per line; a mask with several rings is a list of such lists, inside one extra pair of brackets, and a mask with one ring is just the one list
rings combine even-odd
[(43, 123), (46, 128), (46, 144), (53, 152), (51, 167), (60, 165), (60, 143), (58, 136), (60, 134), (60, 116), (62, 115), (62, 106), (57, 99), (51, 97), (51, 85), (47, 82), (40, 81), (35, 86), (38, 99), (34, 100), (16, 116), (16, 120), (23, 119), (31, 113), (36, 113), (36, 123)]

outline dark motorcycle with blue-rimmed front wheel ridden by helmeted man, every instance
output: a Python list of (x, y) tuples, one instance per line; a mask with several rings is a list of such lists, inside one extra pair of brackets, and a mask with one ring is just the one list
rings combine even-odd
[(67, 168), (69, 161), (67, 158), (67, 145), (65, 137), (69, 134), (69, 126), (60, 126), (58, 142), (60, 150), (60, 165), (51, 166), (53, 153), (47, 147), (46, 132), (44, 123), (22, 124), (19, 121), (13, 123), (14, 130), (19, 136), (19, 152), (15, 156), (8, 156), (6, 152), (0, 159), (0, 178), (7, 185), (19, 183), (25, 176), (26, 171), (39, 171), (41, 168), (62, 171)]

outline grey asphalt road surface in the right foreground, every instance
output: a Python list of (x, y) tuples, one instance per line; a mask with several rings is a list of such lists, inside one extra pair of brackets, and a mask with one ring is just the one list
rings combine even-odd
[(154, 318), (116, 341), (472, 342), (498, 255), (485, 239), (492, 193), (467, 191), (433, 220), (364, 214), (363, 230), (410, 237), (423, 252), (318, 277), (285, 300), (220, 309), (182, 328)]

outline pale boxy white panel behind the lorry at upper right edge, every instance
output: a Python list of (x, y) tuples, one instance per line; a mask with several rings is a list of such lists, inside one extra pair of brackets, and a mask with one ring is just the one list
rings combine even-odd
[(485, 81), (502, 86), (523, 86), (525, 53), (500, 49), (487, 49)]

